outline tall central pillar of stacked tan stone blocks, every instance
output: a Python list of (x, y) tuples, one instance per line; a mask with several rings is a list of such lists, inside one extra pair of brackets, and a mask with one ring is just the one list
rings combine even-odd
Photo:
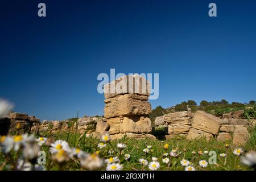
[(96, 131), (109, 131), (113, 139), (151, 138), (150, 82), (139, 75), (123, 76), (104, 85), (106, 121), (97, 122)]

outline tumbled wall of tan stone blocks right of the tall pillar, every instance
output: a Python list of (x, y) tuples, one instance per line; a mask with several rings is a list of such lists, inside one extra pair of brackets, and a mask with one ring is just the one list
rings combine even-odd
[(220, 119), (204, 111), (181, 111), (156, 117), (155, 125), (164, 127), (166, 139), (183, 135), (189, 140), (205, 137), (207, 140), (232, 140), (235, 145), (244, 145), (249, 139), (249, 129), (255, 126), (256, 119), (239, 119), (241, 113), (236, 113), (237, 118), (227, 118), (225, 115)]

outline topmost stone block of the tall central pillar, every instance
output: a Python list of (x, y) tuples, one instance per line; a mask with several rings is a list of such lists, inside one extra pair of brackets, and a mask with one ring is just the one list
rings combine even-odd
[(139, 75), (122, 76), (104, 85), (104, 96), (106, 99), (127, 93), (149, 96), (150, 92), (150, 82)]

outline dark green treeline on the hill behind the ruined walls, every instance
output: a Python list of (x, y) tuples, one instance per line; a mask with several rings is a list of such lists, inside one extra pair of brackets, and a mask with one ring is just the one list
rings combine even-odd
[(156, 117), (163, 114), (186, 110), (191, 110), (192, 112), (195, 112), (197, 110), (204, 110), (208, 113), (216, 115), (217, 117), (221, 117), (224, 113), (229, 113), (240, 109), (245, 110), (244, 117), (256, 117), (255, 101), (250, 101), (249, 103), (232, 102), (230, 104), (226, 100), (212, 102), (201, 101), (200, 105), (197, 105), (195, 101), (188, 100), (187, 102), (181, 102), (180, 104), (169, 107), (167, 109), (164, 109), (162, 106), (157, 106), (155, 109), (152, 110), (152, 113), (150, 114), (150, 119), (154, 121)]

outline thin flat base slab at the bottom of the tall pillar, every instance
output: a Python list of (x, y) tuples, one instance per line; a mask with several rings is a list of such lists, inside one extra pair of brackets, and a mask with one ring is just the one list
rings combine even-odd
[(151, 134), (135, 134), (135, 133), (125, 133), (125, 134), (115, 134), (111, 135), (112, 140), (131, 138), (131, 139), (148, 139), (155, 140), (156, 137)]

